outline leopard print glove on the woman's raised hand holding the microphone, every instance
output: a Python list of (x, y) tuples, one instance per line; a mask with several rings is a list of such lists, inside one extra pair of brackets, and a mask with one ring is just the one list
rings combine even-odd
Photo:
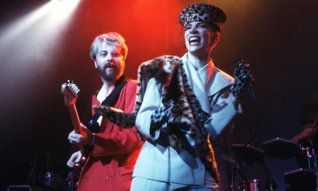
[(250, 65), (244, 64), (241, 59), (236, 60), (237, 66), (234, 70), (234, 82), (230, 89), (233, 96), (238, 100), (241, 98), (244, 88), (247, 83), (253, 82), (253, 75), (250, 73)]

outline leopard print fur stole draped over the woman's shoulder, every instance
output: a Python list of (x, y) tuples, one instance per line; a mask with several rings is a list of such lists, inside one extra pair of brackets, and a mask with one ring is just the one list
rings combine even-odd
[[(155, 78), (163, 84), (162, 103), (151, 116), (150, 133), (160, 130), (177, 152), (184, 150), (199, 157), (207, 170), (220, 182), (214, 151), (204, 123), (209, 114), (203, 111), (200, 102), (188, 83), (183, 62), (177, 56), (161, 56), (147, 61), (138, 69), (137, 96), (132, 114), (106, 106), (94, 106), (96, 112), (122, 127), (132, 127), (143, 102), (147, 83)], [(140, 133), (139, 133), (140, 134)], [(141, 136), (140, 136), (141, 137)], [(190, 141), (189, 141), (190, 140)]]

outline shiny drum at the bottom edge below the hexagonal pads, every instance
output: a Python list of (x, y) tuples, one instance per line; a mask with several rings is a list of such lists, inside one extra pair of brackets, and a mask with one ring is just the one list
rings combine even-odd
[(240, 183), (240, 191), (276, 191), (277, 185), (258, 179), (248, 180)]

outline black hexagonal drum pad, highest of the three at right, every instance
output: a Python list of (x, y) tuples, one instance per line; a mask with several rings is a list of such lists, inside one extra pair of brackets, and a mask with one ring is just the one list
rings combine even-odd
[(262, 143), (265, 154), (276, 159), (288, 159), (296, 156), (300, 149), (290, 140), (276, 137)]

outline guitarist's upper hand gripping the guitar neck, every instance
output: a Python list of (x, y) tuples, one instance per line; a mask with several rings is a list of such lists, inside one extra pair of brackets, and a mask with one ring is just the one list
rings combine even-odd
[[(88, 130), (88, 128), (81, 123), (82, 131), (84, 133), (80, 132), (76, 133), (74, 130), (70, 132), (68, 136), (68, 140), (70, 140), (70, 143), (74, 145), (79, 146), (85, 146), (85, 145), (93, 145), (94, 144), (94, 133), (91, 133), (91, 131)], [(83, 136), (84, 135), (84, 136)]]

